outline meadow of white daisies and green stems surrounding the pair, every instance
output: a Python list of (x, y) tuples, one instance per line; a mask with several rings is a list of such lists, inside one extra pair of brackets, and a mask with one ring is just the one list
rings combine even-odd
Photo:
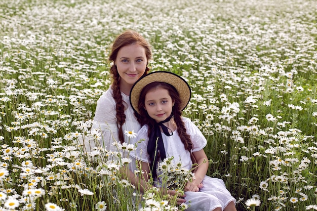
[[(314, 0), (2, 0), (0, 210), (133, 209), (115, 153), (88, 159), (78, 141), (99, 136), (91, 120), (126, 29), (151, 44), (152, 71), (189, 82), (184, 115), (237, 210), (316, 210), (316, 11)], [(152, 199), (144, 210), (175, 210)]]

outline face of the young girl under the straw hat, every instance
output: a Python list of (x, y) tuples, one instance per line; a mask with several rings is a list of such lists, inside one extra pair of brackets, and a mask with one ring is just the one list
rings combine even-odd
[(168, 90), (157, 87), (146, 93), (144, 105), (148, 115), (160, 122), (171, 115), (174, 101)]

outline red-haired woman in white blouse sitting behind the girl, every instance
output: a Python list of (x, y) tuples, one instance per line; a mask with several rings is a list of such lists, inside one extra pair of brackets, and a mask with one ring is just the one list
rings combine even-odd
[(148, 73), (148, 61), (152, 53), (150, 45), (139, 33), (125, 31), (113, 42), (109, 61), (113, 62), (110, 73), (112, 84), (99, 98), (92, 129), (99, 129), (102, 138), (85, 140), (85, 150), (90, 152), (94, 147), (106, 147), (117, 151), (112, 143), (126, 142), (123, 132), (137, 132), (141, 126), (137, 121), (129, 103), (129, 94), (133, 84)]

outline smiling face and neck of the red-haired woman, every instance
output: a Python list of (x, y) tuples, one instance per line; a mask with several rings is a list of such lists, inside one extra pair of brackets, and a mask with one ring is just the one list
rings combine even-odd
[[(145, 48), (132, 44), (122, 47), (114, 61), (120, 75), (120, 89), (130, 93), (131, 87), (144, 74), (147, 64)], [(127, 93), (126, 93), (127, 94)]]

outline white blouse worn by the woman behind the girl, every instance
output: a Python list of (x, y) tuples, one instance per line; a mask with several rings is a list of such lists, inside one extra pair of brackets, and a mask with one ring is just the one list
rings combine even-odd
[[(112, 97), (112, 93), (113, 91), (110, 87), (98, 99), (92, 130), (99, 129), (101, 131), (102, 138), (99, 140), (99, 146), (106, 147), (106, 149), (110, 151), (117, 151), (116, 146), (112, 145), (113, 142), (120, 142), (116, 122), (116, 103)], [(121, 93), (121, 96), (126, 108), (126, 122), (122, 126), (123, 132), (133, 131), (134, 133), (137, 133), (140, 130), (141, 126), (134, 115), (133, 108), (130, 105), (129, 96), (124, 93)], [(132, 141), (126, 136), (124, 136), (124, 139), (127, 144)], [(85, 145), (87, 151), (91, 151), (92, 148), (96, 146), (92, 142), (88, 147), (87, 143), (85, 143)]]

